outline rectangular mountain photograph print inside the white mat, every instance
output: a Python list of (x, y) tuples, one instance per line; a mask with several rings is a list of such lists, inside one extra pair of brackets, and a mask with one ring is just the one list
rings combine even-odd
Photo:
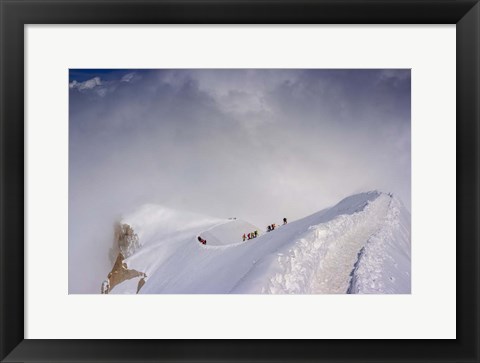
[(70, 69), (69, 294), (410, 294), (410, 69)]

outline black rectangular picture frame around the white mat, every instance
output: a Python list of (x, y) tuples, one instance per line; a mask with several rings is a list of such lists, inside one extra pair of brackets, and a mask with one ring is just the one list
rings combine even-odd
[[(2, 362), (480, 361), (478, 0), (1, 0), (0, 6)], [(24, 26), (158, 23), (456, 24), (457, 339), (24, 339)]]

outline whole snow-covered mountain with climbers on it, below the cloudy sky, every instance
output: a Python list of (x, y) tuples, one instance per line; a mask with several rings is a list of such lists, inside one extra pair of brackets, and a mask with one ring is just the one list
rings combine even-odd
[[(391, 194), (353, 195), (268, 233), (240, 219), (155, 205), (125, 216), (120, 226), (126, 231), (119, 237), (125, 252), (109, 275), (117, 276), (115, 284), (109, 281), (112, 294), (411, 290), (410, 213)], [(243, 234), (253, 231), (258, 236), (243, 241)], [(199, 243), (198, 237), (207, 243)]]

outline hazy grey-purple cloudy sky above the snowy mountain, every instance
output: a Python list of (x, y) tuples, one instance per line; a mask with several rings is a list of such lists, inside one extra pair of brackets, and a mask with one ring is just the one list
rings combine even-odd
[[(69, 290), (143, 203), (264, 228), (348, 195), (410, 209), (410, 70), (70, 70)], [(88, 271), (85, 272), (85, 266)]]

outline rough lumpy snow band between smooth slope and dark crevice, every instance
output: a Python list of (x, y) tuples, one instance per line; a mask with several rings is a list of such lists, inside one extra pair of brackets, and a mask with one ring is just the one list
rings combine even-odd
[(283, 270), (272, 277), (266, 291), (345, 293), (358, 251), (380, 229), (379, 216), (387, 212), (389, 202), (382, 194), (355, 213), (307, 227), (288, 253), (279, 257)]

